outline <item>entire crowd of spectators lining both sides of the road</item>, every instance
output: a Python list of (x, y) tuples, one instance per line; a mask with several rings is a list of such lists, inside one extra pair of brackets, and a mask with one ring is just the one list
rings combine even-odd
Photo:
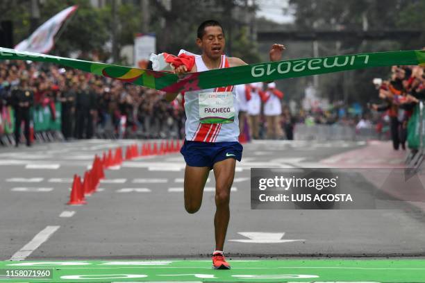
[[(374, 80), (381, 103), (369, 104), (369, 108), (374, 110), (369, 113), (350, 115), (346, 112), (341, 115), (336, 103), (332, 110), (315, 108), (307, 112), (301, 109), (294, 115), (288, 105), (278, 103), (282, 110), (278, 112), (280, 118), (277, 121), (284, 133), (278, 135), (278, 138), (292, 139), (295, 123), (338, 124), (356, 127), (358, 130), (374, 128), (376, 132), (381, 132), (387, 123), (394, 149), (399, 149), (399, 146), (406, 148), (408, 119), (419, 99), (425, 98), (424, 67), (394, 66), (391, 70), (387, 80)], [(95, 136), (184, 138), (185, 112), (181, 96), (169, 103), (165, 101), (162, 92), (154, 89), (94, 76), (76, 69), (63, 69), (37, 62), (1, 62), (0, 112), (8, 105), (17, 107), (19, 101), (13, 97), (13, 90), (25, 88), (31, 90), (31, 106), (48, 108), (53, 119), (56, 119), (55, 103), (61, 104), (60, 119), (65, 139), (90, 139)], [(243, 90), (242, 96), (244, 94)], [(265, 108), (265, 105), (261, 108)], [(377, 112), (381, 114), (376, 115)], [(270, 126), (267, 125), (269, 121), (261, 117), (263, 115), (260, 115), (256, 137), (260, 139), (269, 137)], [(247, 128), (250, 127), (251, 123), (247, 123)]]

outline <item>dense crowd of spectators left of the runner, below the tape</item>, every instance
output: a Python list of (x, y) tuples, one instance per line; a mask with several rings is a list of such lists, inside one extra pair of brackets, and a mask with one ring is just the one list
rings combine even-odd
[(183, 138), (184, 110), (154, 89), (122, 83), (76, 69), (26, 61), (0, 63), (0, 110), (16, 107), (14, 89), (27, 88), (34, 108), (47, 107), (53, 119), (61, 103), (65, 139), (115, 137)]

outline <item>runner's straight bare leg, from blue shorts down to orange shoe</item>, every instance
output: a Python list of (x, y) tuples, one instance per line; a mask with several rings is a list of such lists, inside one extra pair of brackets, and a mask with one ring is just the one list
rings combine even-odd
[(214, 164), (215, 205), (214, 217), (215, 250), (223, 250), (228, 221), (230, 219), (230, 192), (235, 177), (236, 160), (228, 158)]

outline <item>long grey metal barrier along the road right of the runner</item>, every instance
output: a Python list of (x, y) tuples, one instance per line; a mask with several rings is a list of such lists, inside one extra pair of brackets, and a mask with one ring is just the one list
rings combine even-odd
[(381, 135), (374, 128), (356, 129), (342, 125), (311, 125), (297, 123), (294, 129), (294, 139), (317, 141), (364, 141), (367, 139), (381, 139)]

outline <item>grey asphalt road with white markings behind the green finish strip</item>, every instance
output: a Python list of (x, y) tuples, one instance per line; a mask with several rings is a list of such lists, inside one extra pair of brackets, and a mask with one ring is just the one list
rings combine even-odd
[[(27, 260), (208, 256), (214, 248), (213, 174), (201, 209), (188, 214), (181, 191), (185, 164), (179, 153), (124, 162), (119, 169), (106, 171), (103, 190), (89, 196), (87, 205), (66, 205), (72, 176), (83, 175), (94, 154), (134, 142), (89, 140), (0, 148), (0, 260), (17, 257), (19, 250), (26, 250), (22, 259)], [(354, 161), (344, 162), (362, 166), (365, 160), (376, 159), (367, 146), (345, 141), (245, 144), (231, 193), (226, 254), (424, 256), (424, 210), (397, 198), (381, 200), (389, 209), (251, 210), (251, 167), (326, 167), (330, 160), (339, 160), (334, 164), (339, 166), (344, 154), (354, 156)], [(379, 147), (390, 150), (390, 144)], [(359, 157), (356, 151), (368, 153)], [(397, 156), (401, 162), (401, 154)], [(379, 162), (394, 163), (394, 157)], [(376, 189), (361, 175), (353, 173), (351, 178), (354, 189), (370, 188), (371, 194)], [(45, 239), (28, 248), (26, 244), (40, 232)]]

